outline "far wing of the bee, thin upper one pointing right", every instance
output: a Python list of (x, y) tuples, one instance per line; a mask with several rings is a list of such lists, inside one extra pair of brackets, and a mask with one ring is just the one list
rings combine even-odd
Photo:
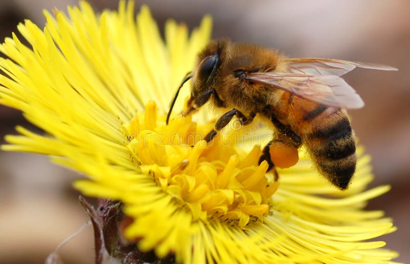
[(289, 71), (296, 74), (307, 75), (335, 75), (341, 76), (356, 67), (383, 71), (397, 71), (397, 68), (371, 63), (348, 62), (341, 59), (330, 58), (287, 58), (286, 64)]

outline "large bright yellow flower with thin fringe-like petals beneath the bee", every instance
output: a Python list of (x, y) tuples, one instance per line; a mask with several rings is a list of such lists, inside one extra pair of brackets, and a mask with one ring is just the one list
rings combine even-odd
[[(165, 41), (147, 7), (134, 17), (121, 1), (117, 12), (96, 15), (81, 2), (68, 16), (45, 12), (40, 30), (18, 25), (31, 47), (13, 34), (0, 46), (0, 103), (22, 110), (46, 135), (17, 127), (4, 150), (48, 155), (84, 173), (74, 183), (90, 196), (120, 200), (133, 219), (125, 230), (142, 251), (175, 254), (184, 263), (392, 263), (383, 241), (393, 232), (367, 200), (389, 190), (365, 190), (370, 157), (358, 148), (357, 172), (347, 191), (321, 180), (309, 156), (278, 170), (278, 181), (257, 164), (260, 147), (212, 128), (204, 111), (165, 115), (195, 55), (210, 37), (205, 16), (189, 36), (168, 21)], [(189, 89), (182, 89), (182, 109)], [(175, 111), (177, 112), (177, 110)], [(193, 119), (192, 119), (193, 118)], [(242, 133), (234, 126), (227, 132)], [(260, 141), (262, 144), (263, 141)]]

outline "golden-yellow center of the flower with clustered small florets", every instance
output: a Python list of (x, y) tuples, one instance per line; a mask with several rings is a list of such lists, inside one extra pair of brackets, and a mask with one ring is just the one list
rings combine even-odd
[(193, 220), (217, 218), (243, 228), (268, 213), (278, 182), (265, 176), (266, 161), (258, 165), (259, 146), (241, 154), (232, 141), (202, 140), (212, 126), (197, 125), (189, 116), (166, 125), (151, 101), (124, 125), (124, 133), (142, 173), (190, 210)]

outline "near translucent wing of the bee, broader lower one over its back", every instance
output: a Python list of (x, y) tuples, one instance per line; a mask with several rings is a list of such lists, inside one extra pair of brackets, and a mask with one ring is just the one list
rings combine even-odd
[(250, 82), (264, 84), (290, 92), (321, 105), (357, 109), (364, 106), (362, 98), (342, 78), (336, 75), (306, 75), (293, 73), (249, 73)]

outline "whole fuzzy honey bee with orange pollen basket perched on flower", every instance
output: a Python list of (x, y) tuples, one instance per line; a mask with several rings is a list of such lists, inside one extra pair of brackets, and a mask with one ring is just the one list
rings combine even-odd
[(192, 73), (178, 87), (167, 124), (179, 90), (192, 78), (191, 97), (182, 115), (207, 101), (231, 109), (204, 137), (207, 142), (234, 116), (248, 125), (259, 114), (271, 120), (277, 130), (264, 147), (259, 164), (266, 160), (269, 170), (290, 167), (296, 164), (297, 150), (303, 144), (319, 173), (344, 190), (357, 159), (354, 132), (345, 109), (362, 108), (364, 103), (340, 76), (356, 67), (397, 70), (339, 59), (287, 58), (269, 48), (228, 39), (211, 40), (199, 53)]

